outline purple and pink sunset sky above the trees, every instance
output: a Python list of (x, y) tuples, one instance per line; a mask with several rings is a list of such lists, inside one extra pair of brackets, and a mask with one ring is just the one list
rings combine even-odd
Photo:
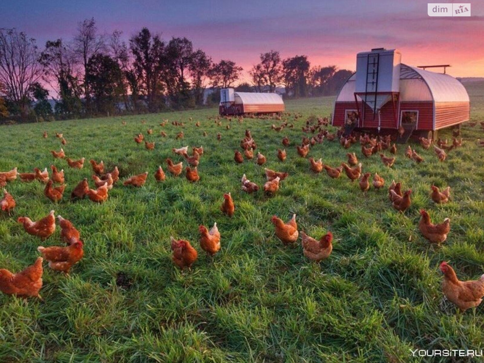
[(1, 26), (27, 32), (40, 48), (71, 39), (79, 21), (94, 17), (100, 32), (122, 30), (126, 40), (142, 27), (165, 40), (186, 36), (214, 61), (245, 71), (270, 49), (354, 70), (355, 53), (386, 47), (400, 49), (409, 65), (445, 63), (453, 76), (484, 76), (482, 0), (471, 2), (471, 17), (429, 17), (421, 0), (16, 0), (2, 10)]

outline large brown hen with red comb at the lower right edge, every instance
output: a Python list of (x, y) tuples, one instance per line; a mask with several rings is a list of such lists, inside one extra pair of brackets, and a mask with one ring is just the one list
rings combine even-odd
[(450, 302), (457, 305), (460, 311), (476, 307), (483, 301), (484, 274), (479, 280), (459, 281), (454, 269), (445, 261), (440, 264), (440, 271), (444, 274), (442, 292)]

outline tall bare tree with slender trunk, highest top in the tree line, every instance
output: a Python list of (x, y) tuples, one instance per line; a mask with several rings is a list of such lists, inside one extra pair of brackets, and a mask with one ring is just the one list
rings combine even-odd
[(91, 112), (91, 95), (89, 82), (87, 81), (88, 62), (91, 57), (106, 49), (104, 35), (97, 34), (94, 18), (85, 19), (78, 23), (77, 34), (74, 37), (74, 51), (80, 60), (84, 73), (84, 97), (86, 98), (86, 111)]

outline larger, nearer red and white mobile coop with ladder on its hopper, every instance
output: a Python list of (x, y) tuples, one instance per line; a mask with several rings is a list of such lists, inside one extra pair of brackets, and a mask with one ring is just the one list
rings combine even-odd
[[(469, 95), (454, 77), (400, 62), (397, 49), (358, 53), (356, 72), (341, 88), (333, 126), (370, 132), (405, 129), (401, 142), (414, 132), (436, 137), (437, 130), (469, 120)], [(445, 71), (445, 68), (444, 68)]]

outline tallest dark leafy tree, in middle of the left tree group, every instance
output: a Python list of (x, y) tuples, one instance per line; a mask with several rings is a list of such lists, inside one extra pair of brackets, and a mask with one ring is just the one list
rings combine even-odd
[(163, 101), (161, 76), (167, 63), (165, 43), (158, 35), (152, 36), (148, 28), (143, 28), (134, 35), (129, 43), (134, 57), (133, 73), (129, 75), (130, 85), (135, 86), (136, 81), (139, 94), (144, 94), (147, 98), (148, 109), (157, 111)]

